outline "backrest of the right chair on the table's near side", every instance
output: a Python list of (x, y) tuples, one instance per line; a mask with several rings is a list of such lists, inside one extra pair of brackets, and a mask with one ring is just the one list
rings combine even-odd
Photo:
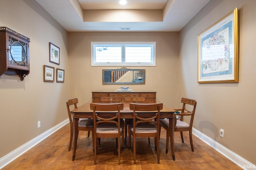
[(133, 110), (133, 122), (135, 122), (134, 129), (136, 125), (138, 125), (139, 123), (154, 123), (154, 124), (157, 124), (157, 129), (159, 129), (160, 110), (163, 109), (162, 103), (158, 103), (158, 104), (131, 103), (130, 109)]

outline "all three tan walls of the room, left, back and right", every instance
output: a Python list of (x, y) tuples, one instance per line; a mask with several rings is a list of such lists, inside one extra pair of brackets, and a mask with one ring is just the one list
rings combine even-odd
[[(239, 83), (198, 84), (197, 35), (236, 7), (240, 19)], [(146, 69), (146, 84), (130, 88), (156, 91), (157, 102), (170, 107), (180, 106), (181, 97), (196, 99), (194, 128), (256, 164), (255, 7), (255, 0), (212, 0), (179, 37), (176, 32), (67, 33), (35, 1), (0, 0), (0, 26), (31, 40), (30, 74), (22, 82), (17, 76), (0, 78), (0, 158), (66, 119), (68, 98), (77, 97), (83, 104), (91, 101), (92, 91), (120, 88), (102, 85), (102, 69), (120, 67), (90, 66), (91, 41), (156, 41), (156, 66), (129, 67)], [(60, 47), (60, 65), (49, 63), (49, 42)], [(44, 64), (64, 69), (65, 82), (43, 82)], [(37, 121), (41, 121), (39, 129)], [(224, 138), (219, 137), (220, 128), (225, 131)]]

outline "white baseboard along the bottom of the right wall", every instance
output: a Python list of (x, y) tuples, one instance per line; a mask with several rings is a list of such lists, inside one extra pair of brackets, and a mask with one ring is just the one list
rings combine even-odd
[(207, 145), (209, 145), (213, 149), (220, 152), (222, 155), (224, 155), (226, 158), (228, 158), (229, 160), (231, 160), (232, 162), (234, 162), (235, 164), (237, 164), (238, 166), (240, 166), (244, 170), (249, 170), (249, 169), (250, 170), (252, 170), (252, 169), (256, 170), (256, 165), (252, 164), (251, 162), (248, 162), (247, 160), (245, 160), (244, 158), (242, 158), (238, 154), (236, 154), (236, 153), (232, 152), (231, 150), (227, 149), (226, 147), (220, 145), (219, 143), (217, 143), (216, 141), (214, 141), (210, 137), (204, 135), (200, 131), (193, 128), (192, 133), (196, 137), (198, 137), (199, 139), (204, 141)]

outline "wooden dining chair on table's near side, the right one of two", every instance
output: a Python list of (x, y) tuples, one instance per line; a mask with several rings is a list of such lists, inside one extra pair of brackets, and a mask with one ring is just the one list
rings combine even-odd
[[(129, 149), (131, 148), (131, 138), (133, 136), (134, 164), (136, 164), (136, 137), (154, 137), (155, 149), (157, 152), (157, 163), (160, 163), (160, 110), (163, 104), (130, 104), (133, 110), (133, 123), (128, 125)], [(151, 112), (157, 111), (157, 112)]]

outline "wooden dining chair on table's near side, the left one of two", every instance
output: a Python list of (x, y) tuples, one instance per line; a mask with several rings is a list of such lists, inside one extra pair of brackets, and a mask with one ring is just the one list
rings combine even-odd
[(120, 137), (122, 136), (122, 147), (124, 148), (124, 120), (120, 119), (120, 110), (124, 109), (123, 103), (96, 104), (91, 103), (94, 120), (94, 164), (96, 164), (97, 138), (118, 139), (118, 164), (120, 164)]

